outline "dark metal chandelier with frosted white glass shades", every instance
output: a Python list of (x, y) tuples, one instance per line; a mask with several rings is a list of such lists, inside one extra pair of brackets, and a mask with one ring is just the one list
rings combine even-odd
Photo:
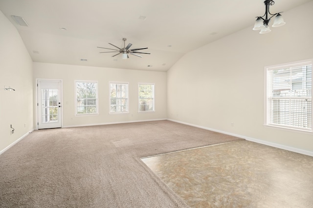
[[(265, 14), (262, 17), (257, 17), (252, 30), (261, 30), (260, 34), (269, 33), (271, 30), (269, 29), (268, 23), (269, 23), (270, 19), (272, 19), (272, 17), (274, 17), (274, 16), (276, 16), (276, 17), (274, 19), (274, 23), (273, 23), (272, 27), (280, 27), (280, 26), (283, 26), (284, 24), (286, 24), (286, 22), (284, 22), (284, 19), (280, 14), (281, 12), (276, 13), (276, 14), (270, 14), (269, 6), (274, 5), (274, 3), (275, 2), (273, 0), (265, 0), (264, 1)], [(268, 18), (268, 14), (271, 15), (270, 18)], [(264, 19), (264, 17), (265, 17), (265, 19)]]

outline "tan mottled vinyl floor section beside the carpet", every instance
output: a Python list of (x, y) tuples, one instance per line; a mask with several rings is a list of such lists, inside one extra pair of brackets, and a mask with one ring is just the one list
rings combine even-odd
[(142, 158), (192, 208), (313, 208), (313, 157), (242, 140)]

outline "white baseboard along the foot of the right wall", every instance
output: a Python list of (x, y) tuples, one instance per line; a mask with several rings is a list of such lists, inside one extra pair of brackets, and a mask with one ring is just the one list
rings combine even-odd
[(279, 148), (279, 149), (282, 149), (282, 150), (293, 151), (293, 152), (297, 152), (297, 153), (300, 153), (300, 154), (313, 156), (313, 152), (312, 151), (306, 151), (306, 150), (302, 150), (302, 149), (297, 149), (297, 148), (293, 148), (293, 147), (289, 147), (289, 146), (285, 146), (285, 145), (281, 145), (281, 144), (276, 144), (276, 143), (273, 143), (273, 142), (268, 142), (268, 141), (264, 141), (264, 140), (260, 140), (260, 139), (255, 139), (255, 138), (251, 138), (251, 137), (247, 137), (247, 136), (243, 136), (243, 135), (238, 135), (238, 134), (234, 134), (234, 133), (223, 132), (223, 131), (219, 131), (219, 130), (216, 130), (216, 129), (210, 129), (210, 128), (206, 128), (206, 127), (202, 127), (202, 126), (198, 126), (198, 125), (194, 125), (194, 124), (189, 124), (189, 123), (185, 123), (185, 122), (181, 122), (181, 121), (177, 121), (177, 120), (173, 120), (173, 119), (167, 119), (167, 120), (173, 121), (173, 122), (177, 122), (177, 123), (181, 123), (181, 124), (185, 124), (185, 125), (188, 125), (188, 126), (193, 126), (193, 127), (198, 127), (198, 128), (201, 128), (201, 129), (206, 129), (206, 130), (209, 130), (209, 131), (212, 131), (212, 132), (219, 132), (219, 133), (224, 133), (224, 134), (231, 135), (231, 136), (236, 136), (236, 137), (243, 138), (243, 139), (246, 139), (246, 140), (251, 141), (251, 142), (256, 142), (256, 143), (267, 145), (267, 146), (270, 146), (270, 147)]

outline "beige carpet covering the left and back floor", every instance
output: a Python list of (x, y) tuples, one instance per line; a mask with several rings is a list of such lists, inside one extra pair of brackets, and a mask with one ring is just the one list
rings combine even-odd
[(140, 158), (235, 140), (166, 120), (34, 131), (0, 155), (0, 207), (188, 207)]

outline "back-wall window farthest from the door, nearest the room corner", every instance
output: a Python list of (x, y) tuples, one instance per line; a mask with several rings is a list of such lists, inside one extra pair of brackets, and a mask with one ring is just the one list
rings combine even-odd
[(155, 110), (155, 85), (138, 84), (139, 112)]

